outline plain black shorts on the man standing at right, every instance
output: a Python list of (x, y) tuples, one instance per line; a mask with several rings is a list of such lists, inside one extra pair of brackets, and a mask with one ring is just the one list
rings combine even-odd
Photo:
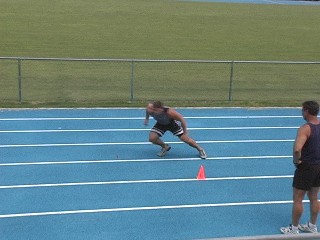
[(304, 162), (299, 164), (294, 173), (292, 186), (305, 191), (320, 187), (320, 165)]

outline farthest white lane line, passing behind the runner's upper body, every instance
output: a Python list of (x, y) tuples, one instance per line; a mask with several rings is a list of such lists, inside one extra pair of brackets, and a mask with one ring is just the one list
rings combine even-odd
[[(195, 116), (187, 119), (260, 119), (260, 118), (301, 118), (301, 116)], [(144, 117), (70, 117), (70, 118), (0, 118), (0, 121), (68, 121), (68, 120), (143, 120)]]

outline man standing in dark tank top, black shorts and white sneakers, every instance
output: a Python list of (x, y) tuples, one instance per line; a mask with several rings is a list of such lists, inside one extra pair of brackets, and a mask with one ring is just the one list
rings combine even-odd
[[(298, 132), (293, 147), (293, 163), (296, 170), (293, 178), (292, 222), (288, 227), (280, 228), (284, 234), (317, 232), (319, 212), (318, 192), (320, 187), (320, 121), (318, 120), (319, 104), (306, 101), (302, 104), (302, 116), (306, 124)], [(310, 200), (310, 220), (299, 224), (303, 213), (303, 199), (308, 195)]]

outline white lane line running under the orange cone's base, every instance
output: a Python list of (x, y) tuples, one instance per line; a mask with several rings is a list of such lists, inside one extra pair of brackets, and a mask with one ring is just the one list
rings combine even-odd
[[(292, 175), (282, 176), (246, 176), (246, 177), (217, 177), (206, 178), (204, 181), (230, 181), (230, 180), (252, 180), (252, 179), (280, 179), (292, 178)], [(89, 185), (115, 185), (115, 184), (139, 184), (139, 183), (171, 183), (171, 182), (194, 182), (199, 181), (197, 178), (186, 179), (146, 179), (132, 181), (108, 181), (108, 182), (74, 182), (74, 183), (43, 183), (43, 184), (22, 184), (0, 186), (0, 189), (16, 189), (16, 188), (43, 188), (43, 187), (70, 187), (70, 186), (89, 186)]]

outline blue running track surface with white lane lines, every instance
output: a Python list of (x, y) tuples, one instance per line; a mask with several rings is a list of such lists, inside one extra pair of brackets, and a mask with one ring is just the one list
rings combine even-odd
[(1, 110), (0, 239), (278, 234), (291, 218), (300, 109), (178, 111), (207, 160), (170, 133), (158, 158), (144, 109)]

